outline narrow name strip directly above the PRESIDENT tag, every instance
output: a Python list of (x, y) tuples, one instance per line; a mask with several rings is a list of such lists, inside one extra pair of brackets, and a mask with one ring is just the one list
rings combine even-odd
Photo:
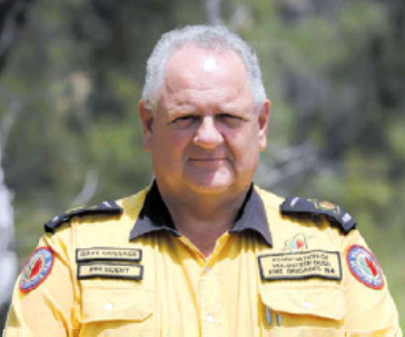
[(142, 250), (138, 248), (78, 248), (76, 249), (77, 262), (89, 261), (131, 261), (139, 262), (142, 259)]

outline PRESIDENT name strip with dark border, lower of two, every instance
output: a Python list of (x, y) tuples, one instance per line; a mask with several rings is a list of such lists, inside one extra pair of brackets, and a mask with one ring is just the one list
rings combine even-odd
[(111, 262), (92, 262), (78, 265), (78, 278), (121, 278), (140, 280), (144, 276), (144, 266), (122, 265)]

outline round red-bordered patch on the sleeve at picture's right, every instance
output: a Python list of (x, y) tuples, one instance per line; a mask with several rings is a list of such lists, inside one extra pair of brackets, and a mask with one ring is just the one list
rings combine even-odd
[(365, 286), (373, 289), (384, 287), (383, 271), (374, 255), (362, 246), (352, 246), (346, 256), (352, 275)]

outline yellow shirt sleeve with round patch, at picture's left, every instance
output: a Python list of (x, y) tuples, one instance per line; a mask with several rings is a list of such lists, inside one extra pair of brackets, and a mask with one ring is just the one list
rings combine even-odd
[(77, 336), (70, 229), (45, 235), (17, 279), (3, 337)]

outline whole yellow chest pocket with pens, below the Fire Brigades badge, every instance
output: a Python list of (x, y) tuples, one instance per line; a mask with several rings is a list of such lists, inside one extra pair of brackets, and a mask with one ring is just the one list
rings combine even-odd
[(264, 336), (344, 336), (339, 326), (346, 304), (344, 290), (337, 284), (318, 280), (264, 284), (260, 298), (267, 333)]

